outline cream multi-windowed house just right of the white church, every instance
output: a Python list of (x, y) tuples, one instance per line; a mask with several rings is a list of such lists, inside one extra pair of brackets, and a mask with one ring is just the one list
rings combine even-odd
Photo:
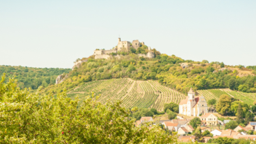
[(202, 122), (202, 125), (204, 126), (216, 126), (218, 124), (218, 117), (216, 117), (213, 113), (205, 113), (201, 115), (199, 118)]

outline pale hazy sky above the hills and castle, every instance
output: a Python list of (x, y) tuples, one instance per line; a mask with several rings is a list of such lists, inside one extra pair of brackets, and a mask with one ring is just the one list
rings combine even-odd
[(0, 65), (71, 68), (139, 39), (164, 54), (256, 65), (256, 1), (0, 1)]

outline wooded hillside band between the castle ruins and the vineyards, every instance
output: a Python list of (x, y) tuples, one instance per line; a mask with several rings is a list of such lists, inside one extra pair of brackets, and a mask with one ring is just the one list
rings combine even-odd
[[(188, 67), (181, 67), (186, 63)], [(256, 92), (255, 67), (224, 65), (223, 62), (203, 60), (195, 62), (167, 54), (147, 59), (137, 54), (125, 55), (122, 58), (94, 59), (89, 57), (81, 67), (76, 67), (68, 74), (68, 79), (57, 86), (45, 90), (57, 92), (64, 87), (72, 90), (85, 82), (102, 79), (131, 78), (134, 80), (158, 80), (164, 86), (186, 94), (189, 88), (208, 90), (229, 88), (241, 92)], [(246, 73), (246, 74), (243, 74)]]

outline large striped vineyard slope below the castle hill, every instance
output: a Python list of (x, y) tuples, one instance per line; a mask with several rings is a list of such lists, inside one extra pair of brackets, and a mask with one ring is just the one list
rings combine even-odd
[[(108, 79), (87, 82), (82, 86), (68, 92), (68, 96), (79, 96), (81, 100), (85, 96), (95, 92), (100, 94), (98, 101), (122, 100), (126, 108), (155, 108), (162, 111), (165, 103), (180, 103), (185, 98), (184, 94), (160, 85), (155, 81), (134, 81), (132, 79)], [(81, 102), (80, 102), (81, 103)]]

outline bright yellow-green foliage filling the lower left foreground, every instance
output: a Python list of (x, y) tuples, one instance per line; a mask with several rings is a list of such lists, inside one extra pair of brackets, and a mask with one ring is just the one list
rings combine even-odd
[(77, 109), (79, 99), (66, 97), (66, 90), (52, 94), (29, 94), (20, 90), (14, 79), (0, 81), (1, 143), (177, 143), (158, 125), (134, 127), (130, 111), (115, 103), (97, 102), (87, 96)]

